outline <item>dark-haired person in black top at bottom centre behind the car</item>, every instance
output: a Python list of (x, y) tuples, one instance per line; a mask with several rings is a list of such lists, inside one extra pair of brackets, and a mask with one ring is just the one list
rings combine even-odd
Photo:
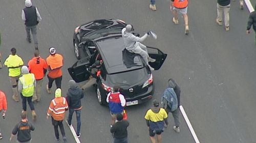
[(127, 127), (129, 126), (129, 122), (123, 120), (121, 113), (117, 114), (116, 120), (117, 122), (110, 129), (110, 132), (114, 136), (114, 143), (127, 143)]

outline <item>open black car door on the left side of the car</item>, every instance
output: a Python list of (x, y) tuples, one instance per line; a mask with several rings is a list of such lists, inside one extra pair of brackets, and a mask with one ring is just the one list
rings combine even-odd
[(90, 56), (77, 61), (72, 67), (68, 68), (69, 74), (76, 82), (89, 79), (90, 73), (87, 68), (90, 66)]

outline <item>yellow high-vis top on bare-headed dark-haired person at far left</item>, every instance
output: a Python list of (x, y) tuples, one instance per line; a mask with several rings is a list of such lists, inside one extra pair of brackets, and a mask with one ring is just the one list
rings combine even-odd
[(15, 77), (20, 75), (20, 66), (23, 66), (24, 62), (17, 54), (10, 54), (4, 64), (9, 69), (9, 76)]

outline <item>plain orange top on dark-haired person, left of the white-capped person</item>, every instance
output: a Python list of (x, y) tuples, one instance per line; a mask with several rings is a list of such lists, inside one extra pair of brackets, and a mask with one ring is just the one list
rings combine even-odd
[(44, 70), (47, 69), (47, 64), (45, 59), (34, 57), (29, 61), (28, 68), (30, 73), (35, 75), (35, 79), (40, 80), (45, 76)]

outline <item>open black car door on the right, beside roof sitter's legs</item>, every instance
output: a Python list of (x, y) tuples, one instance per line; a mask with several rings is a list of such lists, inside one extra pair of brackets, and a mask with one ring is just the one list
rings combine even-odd
[(146, 47), (148, 55), (150, 55), (151, 58), (156, 59), (156, 62), (154, 63), (148, 63), (152, 68), (155, 70), (158, 70), (163, 65), (164, 60), (166, 59), (167, 54), (163, 53), (158, 48), (153, 47)]

